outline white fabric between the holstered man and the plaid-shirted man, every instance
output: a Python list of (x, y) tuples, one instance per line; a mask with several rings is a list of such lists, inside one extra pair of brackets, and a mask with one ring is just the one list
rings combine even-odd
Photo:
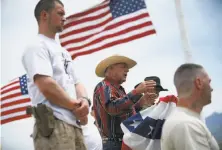
[(91, 116), (91, 114), (89, 114), (88, 124), (82, 126), (85, 144), (87, 150), (102, 150), (103, 149), (102, 138), (99, 134), (96, 125), (94, 124), (94, 121), (95, 119)]

